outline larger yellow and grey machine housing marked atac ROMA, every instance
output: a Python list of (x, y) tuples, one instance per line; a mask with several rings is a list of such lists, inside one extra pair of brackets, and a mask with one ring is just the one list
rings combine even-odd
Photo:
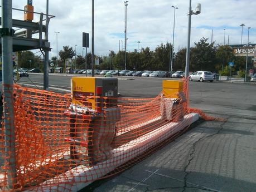
[[(108, 102), (108, 107), (117, 104), (118, 80), (117, 78), (99, 78), (99, 77), (73, 77), (71, 79), (71, 90), (73, 93), (72, 103), (75, 105), (89, 107), (95, 110), (96, 88), (102, 87), (102, 97), (113, 98), (113, 100), (104, 100)], [(87, 97), (87, 99), (85, 99)], [(103, 107), (103, 106), (102, 106)]]

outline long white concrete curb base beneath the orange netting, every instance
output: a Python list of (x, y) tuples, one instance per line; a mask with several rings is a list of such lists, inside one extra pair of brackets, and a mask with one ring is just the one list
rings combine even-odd
[[(80, 165), (71, 171), (67, 171), (65, 174), (61, 174), (55, 178), (47, 180), (40, 186), (26, 191), (79, 191), (85, 188), (85, 186), (91, 184), (91, 180), (102, 178), (118, 166), (143, 154), (143, 152), (148, 150), (150, 147), (156, 146), (198, 119), (198, 114), (188, 114), (180, 122), (170, 122), (146, 135), (138, 137), (137, 139), (118, 147), (117, 149), (114, 149), (113, 156), (107, 161), (98, 163), (90, 168)], [(56, 183), (62, 184), (54, 186)]]

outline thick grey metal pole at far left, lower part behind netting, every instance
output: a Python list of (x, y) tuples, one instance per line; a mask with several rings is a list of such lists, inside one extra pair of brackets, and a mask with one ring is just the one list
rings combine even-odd
[(2, 0), (2, 28), (8, 35), (2, 36), (3, 75), (3, 123), (4, 147), (7, 163), (7, 184), (13, 189), (17, 184), (15, 154), (15, 124), (13, 115), (13, 65), (12, 65), (12, 1)]

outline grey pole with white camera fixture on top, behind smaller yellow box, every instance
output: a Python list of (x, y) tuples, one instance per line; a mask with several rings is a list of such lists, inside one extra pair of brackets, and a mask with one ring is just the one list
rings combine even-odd
[(201, 13), (201, 4), (198, 3), (196, 7), (196, 11), (191, 10), (191, 0), (189, 1), (189, 24), (187, 27), (187, 54), (186, 54), (186, 68), (185, 68), (185, 77), (189, 77), (189, 59), (190, 59), (190, 33), (191, 33), (191, 16), (192, 14), (200, 14)]

